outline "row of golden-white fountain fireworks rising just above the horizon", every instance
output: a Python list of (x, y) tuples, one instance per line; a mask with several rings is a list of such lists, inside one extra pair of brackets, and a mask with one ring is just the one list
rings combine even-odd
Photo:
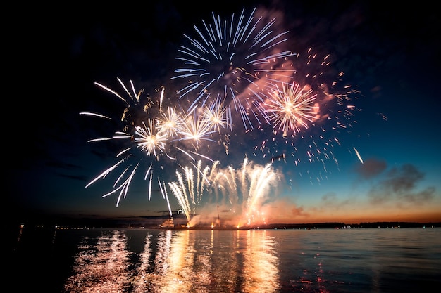
[(213, 204), (221, 204), (230, 210), (228, 219), (223, 219), (224, 224), (251, 226), (265, 223), (260, 208), (277, 187), (280, 174), (271, 164), (261, 166), (249, 162), (247, 158), (241, 169), (232, 166), (222, 169), (220, 164), (216, 161), (212, 167), (202, 168), (199, 161), (192, 167), (182, 167), (183, 174), (176, 171), (176, 181), (168, 183), (182, 207), (187, 226), (212, 221), (209, 214), (213, 211), (209, 209)]

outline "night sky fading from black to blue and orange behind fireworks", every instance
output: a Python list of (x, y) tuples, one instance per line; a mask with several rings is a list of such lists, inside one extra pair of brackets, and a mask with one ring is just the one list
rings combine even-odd
[[(262, 171), (271, 163), (270, 174), (260, 173), (262, 177), (255, 179), (268, 179), (264, 186), (268, 190), (263, 190), (251, 211), (259, 221), (441, 221), (440, 20), (428, 3), (397, 8), (371, 1), (209, 1), (204, 5), (151, 1), (142, 7), (35, 7), (38, 13), (21, 15), (26, 25), (6, 33), (4, 209), (12, 211), (8, 214), (14, 221), (37, 221), (43, 216), (132, 219), (177, 214), (182, 206), (167, 189), (168, 206), (158, 179), (168, 186), (177, 181), (176, 171), (194, 169), (199, 159), (203, 167), (212, 167), (218, 160), (219, 173), (228, 173), (231, 167), (240, 174), (247, 158), (249, 170)], [(268, 66), (280, 69), (281, 63), (285, 70), (295, 69), (295, 74), (290, 73), (293, 80), (300, 86), (309, 84), (321, 105), (313, 122), (282, 136), (275, 122), (268, 122), (264, 111), (259, 112), (259, 99), (249, 91), (251, 83), (245, 77), (232, 83), (240, 91), (238, 99), (247, 92), (242, 102), (251, 101), (245, 120), (228, 96), (225, 104), (230, 105), (231, 128), (215, 131), (199, 143), (167, 141), (167, 154), (173, 159), (149, 156), (127, 138), (88, 143), (112, 137), (125, 127), (134, 136), (134, 124), (142, 125), (139, 112), (147, 101), (151, 102), (147, 114), (160, 111), (161, 89), (164, 108), (189, 108), (200, 89), (182, 98), (180, 90), (202, 78), (174, 77), (180, 75), (176, 69), (190, 66), (179, 57), (182, 48), (194, 51), (190, 39), (199, 38), (194, 27), (209, 37), (204, 23), (213, 27), (212, 13), (230, 29), (242, 9), (247, 20), (254, 8), (251, 22), (262, 17), (257, 27), (274, 20), (266, 41), (275, 44), (271, 37), (284, 33), (278, 37), (284, 41), (272, 48), (263, 46), (263, 41), (257, 44), (261, 50), (267, 48), (262, 56), (275, 51), (289, 51), (292, 56), (250, 65), (244, 51), (262, 53), (250, 38), (230, 47), (236, 51), (234, 65), (247, 72)], [(194, 67), (228, 72), (228, 60), (214, 62), (209, 53), (203, 57), (213, 62)], [(259, 74), (254, 82), (261, 88), (254, 92), (264, 96), (259, 91), (270, 81), (263, 78), (264, 72)], [(140, 105), (131, 105), (134, 112), (124, 121), (120, 118), (127, 104), (95, 84), (130, 100), (118, 79), (130, 93), (130, 82), (135, 93), (143, 90)], [(277, 82), (271, 79), (271, 86)], [(207, 87), (204, 94), (211, 96), (206, 100), (222, 93), (220, 88), (216, 83)], [(267, 98), (259, 100), (266, 109)], [(124, 167), (85, 188), (116, 164), (121, 158), (116, 157), (118, 153), (128, 147), (134, 154), (129, 163), (139, 162), (139, 167), (125, 198), (118, 202), (119, 191), (102, 197), (118, 187), (113, 183)], [(149, 177), (144, 180), (150, 164), (154, 169), (151, 193)], [(213, 219), (218, 211), (223, 219), (242, 219), (242, 223), (249, 217), (245, 205), (250, 185), (242, 186), (247, 191), (237, 191), (237, 202), (232, 202), (231, 190), (229, 195), (225, 191), (225, 184), (233, 186), (229, 179), (201, 193), (200, 219)], [(240, 176), (235, 179), (239, 185)]]

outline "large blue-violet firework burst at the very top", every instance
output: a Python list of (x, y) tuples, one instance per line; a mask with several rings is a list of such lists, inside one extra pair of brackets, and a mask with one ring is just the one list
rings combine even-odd
[(227, 114), (231, 108), (240, 114), (245, 129), (254, 128), (250, 117), (259, 121), (259, 115), (265, 114), (259, 108), (254, 110), (261, 103), (256, 93), (262, 81), (292, 73), (281, 64), (295, 56), (279, 48), (287, 41), (288, 32), (277, 33), (275, 18), (265, 24), (263, 17), (254, 16), (255, 12), (256, 8), (247, 19), (243, 9), (237, 20), (233, 13), (230, 25), (220, 15), (211, 13), (212, 23), (202, 20), (204, 30), (194, 26), (197, 37), (184, 34), (190, 44), (180, 46), (176, 59), (183, 65), (175, 69), (172, 77), (187, 81), (178, 91), (179, 98), (193, 91), (197, 98), (192, 105), (203, 105), (209, 96), (221, 98), (228, 108)]

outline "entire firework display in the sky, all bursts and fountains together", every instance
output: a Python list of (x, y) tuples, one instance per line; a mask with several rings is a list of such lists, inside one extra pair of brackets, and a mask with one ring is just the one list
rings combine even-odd
[[(327, 160), (338, 165), (335, 134), (351, 127), (356, 91), (341, 86), (342, 72), (337, 80), (325, 74), (329, 55), (285, 50), (288, 32), (280, 30), (275, 18), (259, 16), (256, 9), (249, 15), (244, 10), (233, 14), (229, 21), (215, 13), (211, 17), (212, 22), (202, 21), (202, 29), (194, 26), (195, 37), (184, 34), (189, 44), (180, 46), (176, 59), (181, 65), (171, 78), (178, 83), (175, 98), (166, 97), (164, 88), (159, 98), (143, 98), (144, 90), (136, 91), (131, 81), (126, 86), (119, 78), (125, 95), (95, 83), (122, 101), (123, 110), (112, 136), (89, 142), (118, 141), (121, 148), (116, 163), (86, 187), (120, 171), (113, 176), (113, 190), (103, 195), (118, 193), (118, 207), (141, 171), (149, 200), (157, 183), (171, 216), (171, 190), (189, 226), (209, 204), (228, 207), (239, 225), (265, 223), (260, 208), (282, 177), (273, 167), (274, 158), (296, 167), (318, 162), (326, 170)], [(80, 114), (113, 121), (112, 115)], [(235, 129), (236, 121), (244, 129)], [(230, 137), (242, 139), (241, 134), (247, 135), (247, 145), (256, 143), (249, 152), (258, 157), (260, 151), (264, 160), (272, 157), (271, 164), (246, 158), (241, 169), (221, 169), (221, 159), (211, 158), (209, 150), (216, 153), (216, 146), (222, 146), (230, 155)], [(203, 161), (211, 167), (202, 167)], [(176, 166), (180, 169), (170, 169)], [(175, 180), (162, 178), (166, 169)]]

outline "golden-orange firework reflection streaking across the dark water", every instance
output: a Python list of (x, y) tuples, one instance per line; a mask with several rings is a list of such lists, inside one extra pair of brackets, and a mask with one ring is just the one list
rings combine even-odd
[(85, 237), (66, 292), (278, 290), (276, 245), (264, 230), (148, 231), (135, 261), (130, 261), (127, 233), (109, 230), (97, 241)]

